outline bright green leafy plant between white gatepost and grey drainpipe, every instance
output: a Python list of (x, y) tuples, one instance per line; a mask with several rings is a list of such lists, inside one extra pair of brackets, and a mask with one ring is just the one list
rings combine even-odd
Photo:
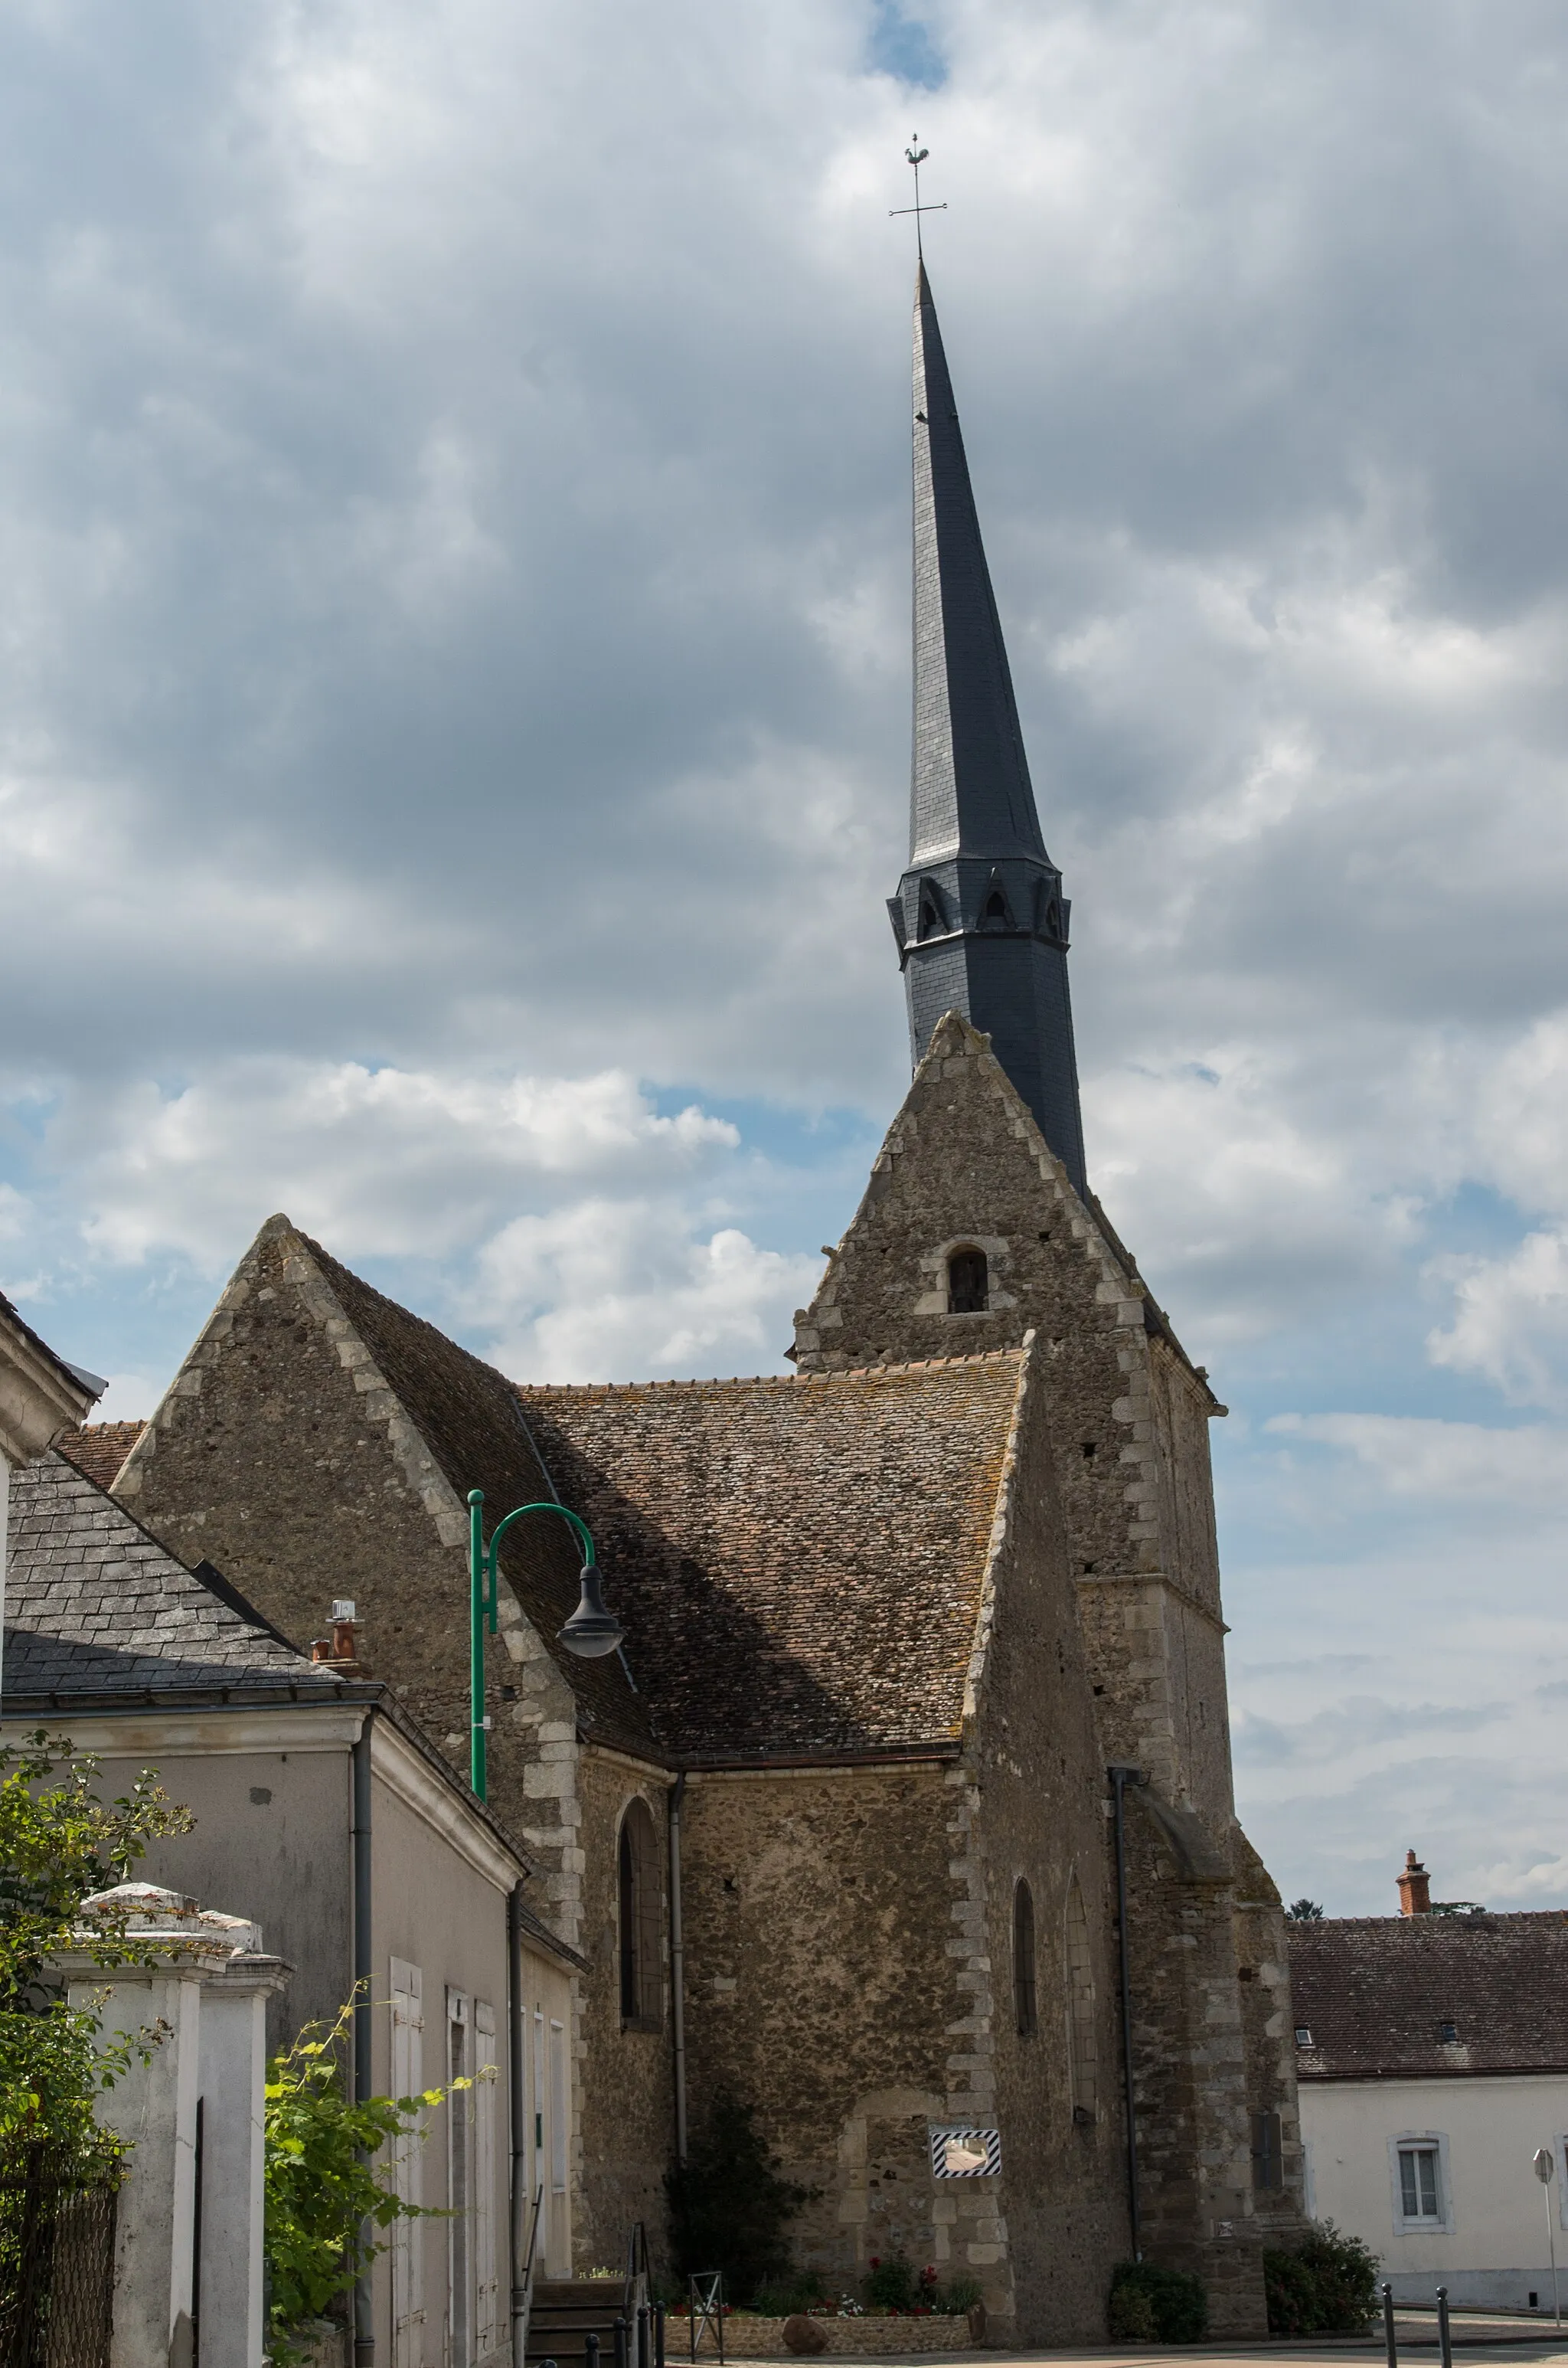
[(289, 2330), (320, 2318), (386, 2252), (391, 2238), (381, 2231), (398, 2219), (445, 2219), (438, 2207), (410, 2205), (396, 2193), (381, 2148), (419, 2143), (429, 2108), (474, 2086), (455, 2079), (448, 2089), (353, 2103), (341, 2063), (351, 2015), (353, 2001), (336, 2022), (308, 2022), (268, 2065), (263, 2245), (268, 2349), (279, 2363), (298, 2359)]

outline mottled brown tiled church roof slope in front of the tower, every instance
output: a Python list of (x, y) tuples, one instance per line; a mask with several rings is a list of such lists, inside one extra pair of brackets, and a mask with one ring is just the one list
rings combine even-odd
[(957, 1738), (1021, 1369), (521, 1390), (670, 1752)]

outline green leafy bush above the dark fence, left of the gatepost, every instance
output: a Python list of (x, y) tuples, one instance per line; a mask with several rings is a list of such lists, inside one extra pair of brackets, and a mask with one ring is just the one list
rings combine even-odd
[(102, 2044), (97, 2008), (69, 2006), (50, 1987), (50, 1958), (73, 1949), (97, 1965), (147, 1963), (152, 1951), (123, 1918), (83, 1937), (81, 1904), (123, 1883), (147, 1842), (194, 1823), (154, 1769), (130, 1793), (99, 1800), (97, 1767), (92, 1752), (45, 1729), (0, 1748), (0, 2143), (45, 2138), (76, 2160), (118, 2153), (92, 2100), (163, 2034), (154, 2025)]

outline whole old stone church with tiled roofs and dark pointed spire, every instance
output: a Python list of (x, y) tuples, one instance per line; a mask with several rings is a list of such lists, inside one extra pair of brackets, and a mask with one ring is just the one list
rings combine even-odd
[(637, 2219), (658, 2250), (730, 2093), (815, 2190), (791, 2242), (834, 2283), (902, 2247), (981, 2278), (1002, 2337), (1082, 2342), (1137, 2247), (1255, 2335), (1300, 2141), (1232, 1802), (1225, 1409), (1087, 1186), (1068, 900), (924, 265), (891, 916), (914, 1082), (793, 1373), (519, 1388), (272, 1217), (116, 1492), (294, 1639), (353, 1596), (460, 1764), (467, 1492), (587, 1520), (623, 1648), (559, 1646), (578, 1556), (526, 1520), (486, 1677), (490, 1804), (590, 1968), (585, 2266)]

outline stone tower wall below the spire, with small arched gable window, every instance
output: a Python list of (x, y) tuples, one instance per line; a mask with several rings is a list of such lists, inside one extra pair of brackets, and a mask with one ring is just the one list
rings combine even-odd
[[(988, 1255), (990, 1305), (947, 1314), (952, 1248)], [(1232, 1868), (1225, 1627), (1206, 1376), (1170, 1338), (1099, 1212), (1073, 1193), (983, 1037), (950, 1016), (898, 1113), (867, 1196), (796, 1321), (803, 1369), (1002, 1347), (1037, 1331), (1054, 1473), (1097, 1717), (1094, 1767), (1142, 1767), (1201, 1819), (1213, 1883), (1170, 1852), (1132, 1866), (1135, 2013), (1156, 2259), (1199, 2266), (1215, 2325), (1262, 2330), (1251, 2235), (1258, 2081), (1293, 2115), (1293, 2070), (1244, 2044)], [(1251, 1854), (1248, 1854), (1251, 1861)], [(1255, 1864), (1255, 1861), (1253, 1861)], [(1248, 2001), (1251, 2003), (1251, 2001)], [(1262, 2091), (1258, 2091), (1262, 2093)]]

